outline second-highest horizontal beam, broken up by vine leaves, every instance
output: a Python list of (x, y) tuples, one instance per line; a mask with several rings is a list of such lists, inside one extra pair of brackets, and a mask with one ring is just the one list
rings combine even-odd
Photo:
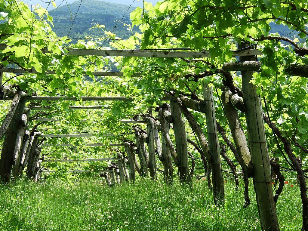
[[(6, 73), (18, 73), (18, 74), (42, 74), (35, 70), (24, 70), (21, 68), (0, 68), (0, 73), (6, 72)], [(56, 75), (55, 71), (47, 70), (44, 72), (44, 74), (47, 75)], [(121, 77), (123, 76), (123, 72), (117, 72), (117, 71), (94, 71), (92, 72), (95, 76), (115, 76), (115, 77)], [(83, 75), (86, 75), (84, 72)]]

